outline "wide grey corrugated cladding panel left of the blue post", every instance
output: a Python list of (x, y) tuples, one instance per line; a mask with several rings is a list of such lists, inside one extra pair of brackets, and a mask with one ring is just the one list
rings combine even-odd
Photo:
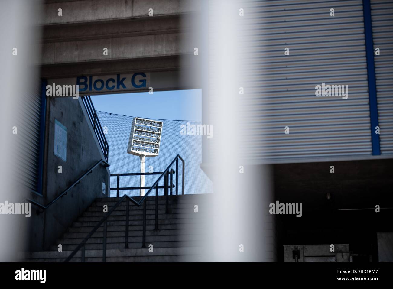
[[(245, 9), (252, 15), (244, 99), (254, 160), (371, 155), (362, 5), (283, 0)], [(348, 85), (348, 99), (316, 96), (322, 83)]]

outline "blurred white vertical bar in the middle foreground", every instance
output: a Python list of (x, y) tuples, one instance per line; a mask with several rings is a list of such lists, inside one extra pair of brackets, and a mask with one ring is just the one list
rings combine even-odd
[(252, 152), (247, 141), (252, 131), (245, 130), (244, 120), (252, 106), (239, 90), (244, 87), (247, 93), (244, 57), (257, 53), (245, 42), (245, 24), (250, 21), (246, 6), (246, 1), (201, 2), (189, 40), (199, 53), (190, 63), (195, 67), (193, 79), (202, 80), (202, 123), (213, 125), (213, 138), (202, 140), (201, 167), (214, 183), (211, 217), (205, 224), (209, 234), (200, 244), (206, 261), (272, 260), (265, 230), (270, 220), (269, 170), (261, 164), (251, 166), (244, 157)]

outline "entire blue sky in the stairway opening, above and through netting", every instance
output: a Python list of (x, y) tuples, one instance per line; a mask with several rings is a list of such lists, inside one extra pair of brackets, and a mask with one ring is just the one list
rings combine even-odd
[[(146, 171), (150, 166), (153, 171), (163, 171), (179, 154), (185, 160), (185, 193), (212, 192), (211, 181), (199, 166), (201, 162), (201, 136), (182, 136), (180, 134), (180, 125), (186, 123), (184, 120), (201, 121), (202, 95), (200, 89), (154, 92), (152, 95), (147, 92), (112, 94), (92, 96), (91, 98), (95, 110), (111, 113), (97, 113), (101, 125), (108, 128), (106, 138), (109, 144), (111, 173), (140, 171), (140, 158), (127, 154), (133, 119), (127, 116), (160, 119), (164, 120), (160, 153), (154, 158), (147, 158)], [(179, 171), (180, 173), (181, 171)], [(156, 178), (156, 175), (147, 175), (146, 186), (151, 186)], [(139, 185), (139, 177), (122, 177), (120, 179), (121, 187)], [(163, 185), (163, 180), (160, 185)], [(116, 177), (111, 177), (111, 188), (114, 187), (116, 187)], [(115, 193), (112, 191), (111, 196), (114, 197)], [(139, 195), (138, 190), (121, 191), (121, 193)], [(162, 195), (163, 190), (160, 190), (159, 193)]]

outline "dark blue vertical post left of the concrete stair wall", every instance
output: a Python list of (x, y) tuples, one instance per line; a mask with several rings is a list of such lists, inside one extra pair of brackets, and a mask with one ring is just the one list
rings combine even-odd
[(45, 145), (45, 116), (46, 116), (46, 85), (48, 81), (41, 80), (41, 115), (40, 115), (40, 146), (38, 154), (37, 192), (42, 194), (42, 177), (44, 175), (44, 145)]

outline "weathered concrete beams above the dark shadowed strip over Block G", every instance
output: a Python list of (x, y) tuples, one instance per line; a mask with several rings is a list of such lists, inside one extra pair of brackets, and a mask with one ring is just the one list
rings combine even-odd
[[(57, 16), (59, 6), (63, 7), (63, 16)], [(187, 30), (184, 25), (180, 28), (180, 15), (189, 11), (185, 7), (191, 6), (179, 0), (47, 3), (42, 18), (41, 64), (116, 61), (192, 52), (193, 47), (180, 41)], [(150, 8), (154, 16), (147, 15)], [(103, 54), (103, 48), (108, 48), (108, 55)]]

